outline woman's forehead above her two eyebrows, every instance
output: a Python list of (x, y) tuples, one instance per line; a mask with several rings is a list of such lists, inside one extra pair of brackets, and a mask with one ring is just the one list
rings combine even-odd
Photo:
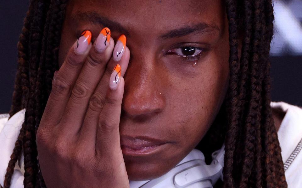
[(225, 21), (221, 0), (72, 0), (67, 18), (83, 12), (97, 13), (134, 30), (170, 30), (200, 22), (223, 29)]

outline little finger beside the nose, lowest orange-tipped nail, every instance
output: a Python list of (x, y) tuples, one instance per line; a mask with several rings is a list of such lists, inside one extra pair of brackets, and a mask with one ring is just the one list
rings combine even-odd
[(125, 81), (118, 71), (119, 69), (116, 67), (110, 76), (110, 86), (103, 110), (99, 115), (96, 140), (93, 144), (96, 147), (97, 156), (100, 156), (104, 149), (109, 155), (120, 151), (119, 125)]

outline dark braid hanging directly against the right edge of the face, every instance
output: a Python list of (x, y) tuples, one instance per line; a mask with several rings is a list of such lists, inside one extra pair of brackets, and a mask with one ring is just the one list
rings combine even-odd
[(238, 140), (238, 27), (236, 22), (237, 7), (236, 2), (226, 1), (226, 13), (229, 20), (229, 42), (230, 42), (230, 81), (227, 96), (227, 108), (229, 111), (228, 129), (225, 139), (225, 156), (223, 169), (224, 186), (235, 187), (233, 180), (234, 173), (234, 152), (236, 150), (236, 141)]

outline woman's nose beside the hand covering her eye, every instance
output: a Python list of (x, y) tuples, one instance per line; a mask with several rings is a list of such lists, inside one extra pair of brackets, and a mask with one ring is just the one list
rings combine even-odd
[(165, 108), (163, 78), (151, 57), (131, 55), (124, 76), (122, 115), (133, 121), (154, 118)]

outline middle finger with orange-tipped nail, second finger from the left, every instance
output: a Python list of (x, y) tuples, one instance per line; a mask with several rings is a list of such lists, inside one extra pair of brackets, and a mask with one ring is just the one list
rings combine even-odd
[(63, 129), (71, 135), (79, 132), (89, 99), (101, 80), (110, 60), (114, 48), (114, 40), (110, 38), (110, 30), (108, 28), (102, 29), (93, 46), (73, 87), (64, 111), (65, 115), (61, 121), (66, 125)]

